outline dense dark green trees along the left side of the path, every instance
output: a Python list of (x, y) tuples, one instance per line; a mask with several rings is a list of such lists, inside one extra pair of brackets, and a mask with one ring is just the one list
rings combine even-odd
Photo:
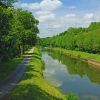
[(38, 20), (31, 12), (11, 7), (14, 1), (0, 2), (0, 61), (23, 54), (39, 33)]

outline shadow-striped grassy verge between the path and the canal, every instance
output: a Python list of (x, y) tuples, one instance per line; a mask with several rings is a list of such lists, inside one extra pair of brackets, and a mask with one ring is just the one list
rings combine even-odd
[(41, 54), (35, 48), (27, 71), (9, 100), (66, 100), (65, 95), (43, 78), (43, 68)]

